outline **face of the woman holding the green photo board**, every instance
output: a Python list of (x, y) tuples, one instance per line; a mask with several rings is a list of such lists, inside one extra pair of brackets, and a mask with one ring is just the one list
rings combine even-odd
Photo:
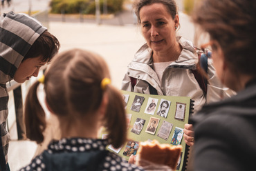
[(164, 52), (176, 43), (175, 27), (179, 26), (179, 17), (174, 19), (162, 3), (153, 3), (140, 9), (140, 21), (143, 37), (154, 52)]

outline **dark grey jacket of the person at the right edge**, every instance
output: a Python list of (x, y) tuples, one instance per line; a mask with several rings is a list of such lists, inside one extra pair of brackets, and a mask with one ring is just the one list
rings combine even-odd
[(256, 80), (235, 97), (203, 106), (192, 123), (194, 170), (255, 169)]

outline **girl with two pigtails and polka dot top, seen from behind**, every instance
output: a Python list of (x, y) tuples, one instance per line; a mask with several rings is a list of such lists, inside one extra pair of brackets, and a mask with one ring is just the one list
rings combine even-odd
[[(28, 91), (25, 105), (27, 137), (44, 140), (45, 112), (37, 98), (44, 83), (46, 106), (60, 123), (61, 139), (52, 141), (21, 170), (143, 170), (113, 152), (127, 140), (127, 125), (120, 92), (111, 86), (107, 63), (92, 52), (73, 49), (57, 55), (44, 80)], [(86, 105), (84, 105), (86, 104)], [(98, 139), (102, 126), (107, 139)]]

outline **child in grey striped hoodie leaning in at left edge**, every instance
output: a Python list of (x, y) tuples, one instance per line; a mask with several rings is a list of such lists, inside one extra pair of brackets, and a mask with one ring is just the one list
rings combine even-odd
[(6, 83), (18, 83), (37, 77), (44, 66), (58, 52), (60, 43), (37, 20), (26, 14), (4, 13), (0, 17), (0, 170), (8, 166), (10, 134), (8, 118), (8, 90)]

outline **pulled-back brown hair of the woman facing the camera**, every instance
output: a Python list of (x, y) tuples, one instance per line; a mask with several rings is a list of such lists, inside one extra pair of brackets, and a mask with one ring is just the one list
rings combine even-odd
[(143, 8), (143, 6), (149, 6), (149, 5), (152, 5), (153, 3), (162, 3), (166, 7), (170, 15), (172, 16), (172, 19), (175, 18), (176, 14), (178, 14), (177, 4), (176, 4), (176, 1), (174, 0), (136, 0), (134, 1), (133, 7), (138, 19), (138, 23), (141, 23), (140, 9)]

